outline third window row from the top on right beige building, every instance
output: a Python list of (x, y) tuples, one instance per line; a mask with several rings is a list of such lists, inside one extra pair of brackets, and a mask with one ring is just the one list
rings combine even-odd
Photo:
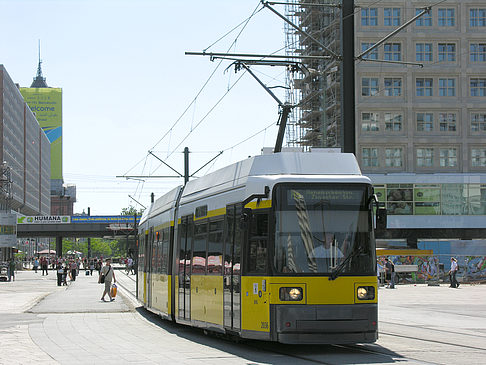
[[(455, 77), (416, 77), (415, 96), (417, 97), (456, 97), (459, 82)], [(362, 77), (361, 96), (401, 97), (405, 94), (404, 81), (401, 77)], [(486, 96), (486, 78), (469, 78), (469, 96)]]

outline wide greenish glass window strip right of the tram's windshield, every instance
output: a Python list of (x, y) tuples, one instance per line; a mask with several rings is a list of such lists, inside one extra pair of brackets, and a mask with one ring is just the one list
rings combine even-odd
[(484, 184), (374, 185), (391, 215), (485, 215)]

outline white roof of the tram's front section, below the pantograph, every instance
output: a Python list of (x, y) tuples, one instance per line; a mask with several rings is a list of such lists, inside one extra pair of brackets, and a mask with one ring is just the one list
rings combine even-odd
[(266, 176), (273, 180), (274, 175), (333, 175), (347, 181), (355, 180), (351, 176), (362, 176), (358, 162), (351, 153), (280, 152), (250, 157), (191, 180), (184, 188), (182, 200), (200, 193), (206, 195), (241, 187), (247, 185), (253, 177)]

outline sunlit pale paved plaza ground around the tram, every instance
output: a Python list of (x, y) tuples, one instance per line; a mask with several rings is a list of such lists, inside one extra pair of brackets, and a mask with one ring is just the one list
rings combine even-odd
[(486, 285), (380, 288), (380, 338), (349, 351), (205, 336), (141, 309), (129, 294), (135, 277), (122, 270), (114, 302), (100, 301), (96, 272), (81, 271), (68, 287), (53, 274), (22, 271), (0, 283), (0, 364), (484, 364), (486, 356)]

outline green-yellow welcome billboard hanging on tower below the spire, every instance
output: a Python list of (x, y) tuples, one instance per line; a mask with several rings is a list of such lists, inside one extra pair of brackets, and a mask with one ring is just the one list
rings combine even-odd
[(21, 87), (20, 93), (51, 142), (51, 179), (62, 180), (62, 89)]

